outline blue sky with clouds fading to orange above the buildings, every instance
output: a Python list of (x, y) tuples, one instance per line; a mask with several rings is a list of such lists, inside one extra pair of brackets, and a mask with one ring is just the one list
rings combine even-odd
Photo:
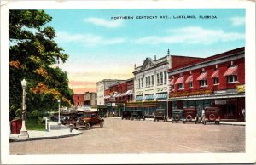
[(69, 55), (59, 67), (67, 71), (74, 94), (96, 92), (102, 79), (129, 79), (135, 64), (164, 57), (168, 49), (171, 55), (208, 57), (245, 46), (245, 9), (45, 12), (52, 17), (47, 26), (55, 28), (55, 42)]

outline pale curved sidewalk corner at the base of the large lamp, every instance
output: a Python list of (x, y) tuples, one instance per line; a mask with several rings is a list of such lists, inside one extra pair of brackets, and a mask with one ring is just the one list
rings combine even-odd
[(57, 122), (50, 122), (50, 125), (51, 125), (50, 131), (28, 130), (27, 131), (29, 135), (28, 139), (20, 139), (19, 134), (9, 134), (9, 142), (29, 141), (29, 140), (38, 140), (38, 139), (57, 139), (57, 138), (65, 138), (65, 137), (82, 134), (82, 132), (75, 129), (73, 129), (73, 131), (70, 132), (70, 128), (64, 125), (58, 125)]

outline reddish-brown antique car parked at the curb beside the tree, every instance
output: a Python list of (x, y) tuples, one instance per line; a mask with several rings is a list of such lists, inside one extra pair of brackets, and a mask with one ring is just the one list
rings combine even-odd
[(78, 120), (73, 121), (71, 124), (71, 129), (85, 128), (88, 130), (94, 125), (99, 125), (102, 128), (104, 119), (99, 116), (98, 111), (84, 111), (83, 115), (78, 117)]

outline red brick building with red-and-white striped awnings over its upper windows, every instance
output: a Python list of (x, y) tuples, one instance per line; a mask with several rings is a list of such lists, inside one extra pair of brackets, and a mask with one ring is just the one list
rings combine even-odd
[[(244, 48), (236, 48), (168, 71), (172, 109), (219, 106), (225, 120), (242, 121), (245, 108)], [(170, 117), (170, 115), (169, 115)]]

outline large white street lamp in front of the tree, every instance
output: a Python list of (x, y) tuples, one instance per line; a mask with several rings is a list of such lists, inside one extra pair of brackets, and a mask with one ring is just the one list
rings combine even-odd
[(25, 98), (26, 98), (26, 80), (23, 79), (21, 81), (21, 86), (22, 86), (22, 125), (21, 125), (21, 129), (20, 129), (20, 136), (19, 138), (22, 139), (26, 139), (28, 138), (28, 133), (26, 130), (26, 125), (25, 125), (25, 118), (26, 118), (26, 103), (25, 103)]

